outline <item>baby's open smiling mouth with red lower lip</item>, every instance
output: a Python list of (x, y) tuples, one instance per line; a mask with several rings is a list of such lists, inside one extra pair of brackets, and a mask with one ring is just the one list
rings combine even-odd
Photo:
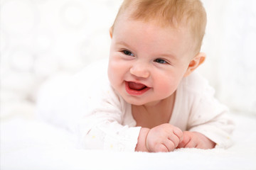
[(150, 88), (144, 84), (139, 84), (132, 81), (125, 81), (125, 89), (128, 94), (133, 96), (139, 96), (144, 94)]

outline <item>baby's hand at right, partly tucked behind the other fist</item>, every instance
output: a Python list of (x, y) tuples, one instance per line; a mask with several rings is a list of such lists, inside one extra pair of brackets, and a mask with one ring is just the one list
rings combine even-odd
[(213, 149), (215, 147), (215, 142), (211, 141), (205, 135), (200, 132), (183, 132), (183, 140), (178, 145), (178, 148), (188, 147), (188, 148), (199, 148), (199, 149)]

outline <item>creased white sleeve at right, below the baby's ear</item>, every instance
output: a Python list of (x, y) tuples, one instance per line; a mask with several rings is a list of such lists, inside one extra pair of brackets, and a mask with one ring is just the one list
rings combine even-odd
[(215, 142), (216, 147), (227, 148), (232, 145), (231, 135), (235, 126), (228, 117), (228, 108), (215, 99), (214, 93), (206, 83), (201, 93), (195, 95), (187, 128), (201, 132)]

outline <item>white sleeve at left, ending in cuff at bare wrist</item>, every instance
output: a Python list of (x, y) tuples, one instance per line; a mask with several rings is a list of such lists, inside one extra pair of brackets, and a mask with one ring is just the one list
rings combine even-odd
[(112, 88), (102, 96), (99, 106), (80, 121), (80, 146), (134, 152), (141, 128), (122, 125), (125, 103)]

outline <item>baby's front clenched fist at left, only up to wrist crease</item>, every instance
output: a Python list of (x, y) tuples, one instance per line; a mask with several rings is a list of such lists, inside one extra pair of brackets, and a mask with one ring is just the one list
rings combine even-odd
[(183, 133), (174, 125), (165, 123), (149, 130), (146, 148), (149, 152), (171, 152), (182, 141)]

